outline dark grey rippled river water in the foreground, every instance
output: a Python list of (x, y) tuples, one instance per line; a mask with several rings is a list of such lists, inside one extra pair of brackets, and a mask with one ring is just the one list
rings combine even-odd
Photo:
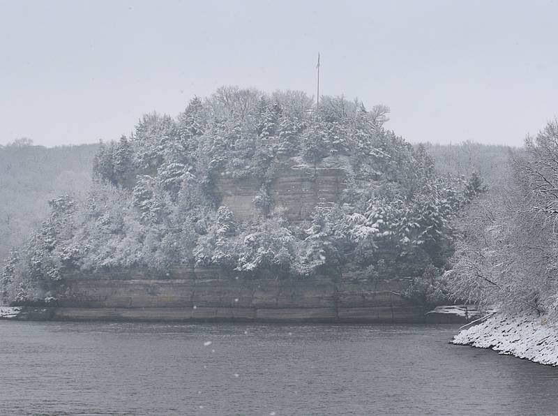
[(558, 414), (558, 369), (456, 330), (0, 321), (0, 415)]

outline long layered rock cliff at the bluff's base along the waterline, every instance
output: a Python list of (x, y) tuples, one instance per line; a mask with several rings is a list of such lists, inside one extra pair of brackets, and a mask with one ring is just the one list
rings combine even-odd
[(396, 295), (402, 280), (363, 282), (347, 267), (314, 278), (249, 278), (220, 269), (142, 269), (66, 276), (54, 319), (425, 322), (425, 310)]

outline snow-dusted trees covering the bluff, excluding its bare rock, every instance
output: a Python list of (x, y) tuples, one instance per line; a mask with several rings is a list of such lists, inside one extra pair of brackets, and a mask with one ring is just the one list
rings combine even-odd
[[(90, 185), (50, 199), (50, 214), (3, 265), (3, 298), (55, 304), (64, 274), (75, 271), (145, 267), (164, 276), (186, 265), (247, 278), (311, 278), (350, 262), (370, 280), (412, 277), (413, 299), (447, 301), (455, 249), (456, 270), (469, 253), (459, 218), (487, 193), (478, 172), (496, 184), (508, 150), (492, 149), (499, 158), (490, 164), (472, 143), (413, 146), (384, 127), (388, 114), (344, 97), (324, 96), (316, 105), (299, 91), (238, 87), (195, 97), (176, 118), (145, 114), (130, 135), (99, 144)], [(289, 223), (269, 194), (278, 167), (287, 160), (317, 167), (331, 158), (345, 170), (340, 200)], [(260, 179), (255, 218), (237, 221), (220, 204), (222, 176)]]

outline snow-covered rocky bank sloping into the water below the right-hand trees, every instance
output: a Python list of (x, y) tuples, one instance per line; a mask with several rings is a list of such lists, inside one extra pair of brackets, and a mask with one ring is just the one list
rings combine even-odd
[(495, 313), (478, 325), (461, 331), (452, 342), (492, 348), (500, 354), (558, 366), (558, 327), (548, 324), (544, 316), (513, 317)]

